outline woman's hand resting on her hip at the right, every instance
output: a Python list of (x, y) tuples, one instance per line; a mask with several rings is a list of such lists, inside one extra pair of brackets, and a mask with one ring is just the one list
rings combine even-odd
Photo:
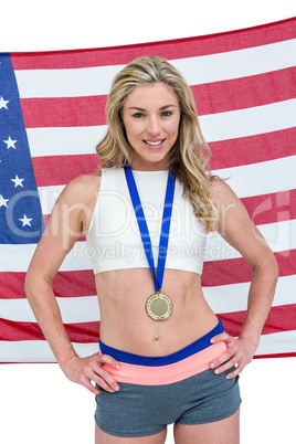
[(226, 379), (234, 378), (252, 361), (256, 347), (245, 338), (235, 339), (226, 332), (216, 335), (211, 339), (211, 343), (219, 341), (224, 341), (228, 350), (214, 359), (210, 367), (214, 369), (216, 374), (220, 374), (235, 366), (235, 370), (226, 374)]

